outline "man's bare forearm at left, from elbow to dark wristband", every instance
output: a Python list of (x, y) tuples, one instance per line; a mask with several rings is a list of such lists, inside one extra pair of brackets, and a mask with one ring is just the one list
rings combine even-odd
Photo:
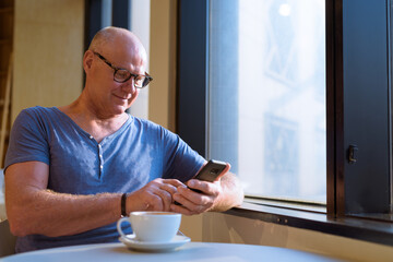
[(116, 222), (120, 217), (118, 193), (72, 195), (32, 190), (24, 195), (7, 194), (11, 230), (16, 236), (74, 235)]

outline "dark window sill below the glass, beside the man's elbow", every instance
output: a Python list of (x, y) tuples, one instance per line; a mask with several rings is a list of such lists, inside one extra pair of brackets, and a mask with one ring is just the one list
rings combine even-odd
[(309, 229), (341, 237), (354, 238), (374, 243), (393, 246), (393, 224), (362, 218), (330, 218), (320, 211), (300, 211), (299, 206), (277, 207), (263, 202), (246, 199), (239, 207), (226, 214), (267, 223)]

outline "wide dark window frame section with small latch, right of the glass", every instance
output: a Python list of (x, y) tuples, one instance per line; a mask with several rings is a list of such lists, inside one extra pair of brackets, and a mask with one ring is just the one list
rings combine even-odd
[[(326, 1), (326, 200), (332, 217), (390, 211), (389, 2)], [(356, 163), (348, 159), (350, 145), (358, 148)]]

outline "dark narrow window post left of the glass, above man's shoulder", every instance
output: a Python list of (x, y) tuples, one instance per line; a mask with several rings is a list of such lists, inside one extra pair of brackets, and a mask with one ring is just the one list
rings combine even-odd
[(176, 130), (202, 156), (207, 154), (207, 0), (179, 0)]

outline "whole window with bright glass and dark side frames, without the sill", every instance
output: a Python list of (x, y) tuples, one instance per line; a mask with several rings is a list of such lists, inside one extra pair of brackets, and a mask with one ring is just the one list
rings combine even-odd
[[(207, 158), (235, 163), (241, 179), (252, 176), (246, 178), (251, 194), (323, 202), (325, 183), (329, 217), (391, 219), (390, 7), (390, 0), (180, 1), (178, 133)], [(245, 22), (253, 19), (259, 26)], [(278, 36), (274, 28), (279, 28)], [(310, 40), (305, 46), (300, 38), (306, 37)], [(258, 39), (261, 48), (252, 46)], [(289, 87), (293, 96), (274, 100)], [(302, 102), (301, 93), (310, 100)], [(290, 108), (290, 99), (301, 103)], [(247, 115), (245, 106), (257, 109)], [(303, 127), (302, 120), (313, 128)], [(263, 134), (255, 139), (255, 133)], [(325, 153), (319, 145), (324, 135)], [(283, 145), (286, 155), (264, 150), (267, 143)], [(248, 148), (241, 148), (245, 144)], [(250, 152), (260, 153), (248, 163)], [(308, 169), (301, 168), (303, 158)], [(276, 164), (284, 159), (288, 165)], [(269, 181), (267, 174), (279, 174), (278, 180)], [(308, 174), (306, 192), (283, 193), (302, 183), (294, 177)]]

